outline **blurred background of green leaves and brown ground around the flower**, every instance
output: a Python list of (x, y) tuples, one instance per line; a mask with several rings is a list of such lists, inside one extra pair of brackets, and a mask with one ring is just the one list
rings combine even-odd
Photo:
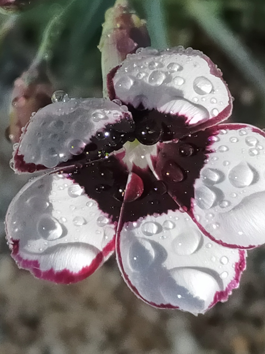
[[(16, 0), (17, 1), (17, 0)], [(15, 1), (15, 3), (16, 3)], [(18, 1), (19, 2), (19, 1)], [(101, 97), (104, 13), (114, 0), (31, 0), (0, 14), (0, 220), (29, 178), (9, 167), (8, 112), (14, 80), (49, 37), (53, 89)], [(154, 47), (203, 51), (221, 68), (235, 98), (231, 121), (265, 127), (264, 0), (134, 0)], [(1, 2), (0, 2), (1, 4)], [(65, 11), (64, 11), (65, 10)], [(64, 13), (63, 17), (60, 14)], [(8, 134), (7, 134), (8, 135)], [(90, 278), (55, 285), (18, 270), (0, 224), (0, 354), (262, 354), (265, 353), (265, 249), (248, 253), (240, 289), (206, 315), (154, 309), (122, 280), (113, 256)]]

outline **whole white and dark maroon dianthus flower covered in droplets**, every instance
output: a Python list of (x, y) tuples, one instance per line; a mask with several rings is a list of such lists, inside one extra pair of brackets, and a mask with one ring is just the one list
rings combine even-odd
[(204, 313), (238, 286), (246, 249), (265, 242), (265, 134), (219, 125), (232, 97), (191, 48), (141, 48), (107, 87), (110, 100), (57, 92), (25, 127), (14, 170), (46, 171), (8, 209), (12, 257), (71, 283), (116, 248), (137, 297)]

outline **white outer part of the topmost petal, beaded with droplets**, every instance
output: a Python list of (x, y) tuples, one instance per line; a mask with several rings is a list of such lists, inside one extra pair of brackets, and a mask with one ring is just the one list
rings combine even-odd
[(128, 55), (109, 74), (109, 95), (134, 108), (172, 114), (193, 131), (227, 119), (232, 110), (220, 70), (200, 51), (181, 46)]

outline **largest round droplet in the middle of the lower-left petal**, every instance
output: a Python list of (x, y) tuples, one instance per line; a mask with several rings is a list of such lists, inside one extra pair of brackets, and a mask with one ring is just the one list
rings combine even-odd
[(37, 232), (46, 240), (56, 240), (62, 235), (63, 229), (54, 217), (43, 215), (37, 222)]

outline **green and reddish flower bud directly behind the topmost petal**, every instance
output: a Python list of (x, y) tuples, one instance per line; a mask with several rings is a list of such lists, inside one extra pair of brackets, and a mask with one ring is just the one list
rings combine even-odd
[(99, 44), (103, 76), (103, 95), (107, 97), (106, 76), (119, 65), (129, 53), (151, 44), (145, 21), (130, 10), (127, 0), (117, 0), (105, 14)]

